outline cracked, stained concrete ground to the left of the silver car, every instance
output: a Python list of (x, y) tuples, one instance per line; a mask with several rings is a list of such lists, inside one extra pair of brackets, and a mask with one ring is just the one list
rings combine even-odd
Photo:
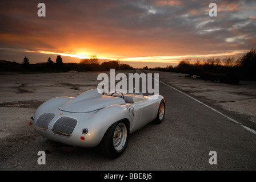
[[(121, 71), (115, 71), (116, 73)], [(122, 71), (129, 73), (130, 71)], [(38, 136), (29, 127), (30, 117), (54, 97), (76, 97), (97, 88), (101, 72), (69, 72), (0, 75), (0, 161), (9, 158), (27, 140)], [(108, 72), (106, 72), (108, 73)]]

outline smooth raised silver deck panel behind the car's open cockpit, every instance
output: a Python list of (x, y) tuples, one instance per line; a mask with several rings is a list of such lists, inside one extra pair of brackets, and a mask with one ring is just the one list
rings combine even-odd
[(103, 96), (97, 89), (89, 90), (75, 97), (66, 104), (59, 106), (59, 110), (72, 113), (88, 113), (110, 105), (126, 104), (122, 98)]

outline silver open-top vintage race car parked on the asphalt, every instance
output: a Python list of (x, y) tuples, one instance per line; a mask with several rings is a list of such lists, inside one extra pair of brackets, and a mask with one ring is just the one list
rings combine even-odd
[(88, 90), (77, 97), (57, 97), (38, 107), (30, 124), (43, 137), (70, 146), (99, 146), (117, 158), (129, 135), (150, 122), (161, 123), (165, 98), (160, 95)]

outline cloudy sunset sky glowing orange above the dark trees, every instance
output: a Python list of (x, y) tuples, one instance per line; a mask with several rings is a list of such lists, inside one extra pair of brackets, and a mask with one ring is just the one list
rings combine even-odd
[[(38, 3), (46, 16), (39, 17)], [(210, 3), (217, 17), (209, 16)], [(86, 56), (133, 67), (239, 57), (256, 47), (256, 1), (0, 1), (0, 60), (79, 63)], [(141, 62), (143, 62), (141, 64)]]

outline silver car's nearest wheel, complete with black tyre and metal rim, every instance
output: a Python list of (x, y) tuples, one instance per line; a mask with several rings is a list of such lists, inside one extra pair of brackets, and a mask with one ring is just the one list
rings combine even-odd
[(129, 125), (127, 121), (121, 120), (107, 129), (99, 146), (107, 158), (118, 158), (125, 151), (128, 140)]

